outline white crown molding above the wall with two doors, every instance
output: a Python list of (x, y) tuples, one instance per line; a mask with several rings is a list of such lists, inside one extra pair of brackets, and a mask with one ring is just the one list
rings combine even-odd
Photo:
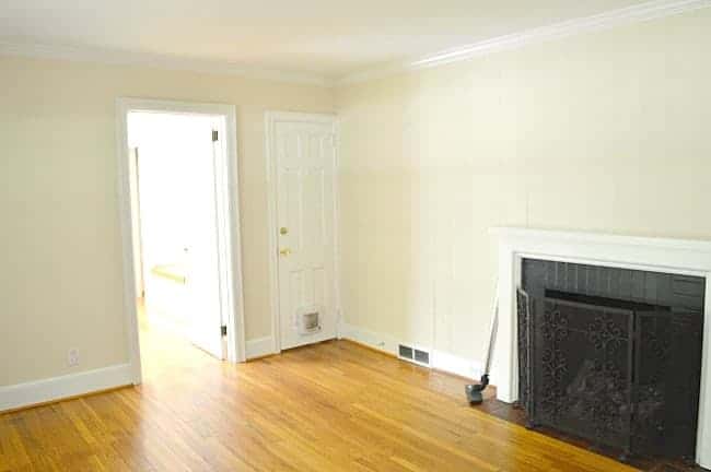
[(288, 72), (238, 66), (215, 60), (186, 59), (167, 55), (129, 52), (93, 47), (0, 42), (0, 56), (61, 59), (121, 66), (148, 66), (166, 70), (241, 75), (248, 79), (268, 80), (290, 84), (316, 85), (322, 87), (334, 86), (334, 83), (329, 78), (314, 73)]

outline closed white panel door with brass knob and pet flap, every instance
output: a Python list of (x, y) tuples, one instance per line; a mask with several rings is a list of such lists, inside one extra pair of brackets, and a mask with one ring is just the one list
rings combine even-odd
[(277, 120), (281, 349), (336, 337), (334, 122)]

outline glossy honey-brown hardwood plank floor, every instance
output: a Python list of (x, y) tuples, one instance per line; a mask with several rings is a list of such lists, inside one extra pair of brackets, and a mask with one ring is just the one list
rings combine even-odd
[(0, 471), (634, 470), (348, 341), (237, 366), (150, 330), (141, 343), (141, 387), (0, 416)]

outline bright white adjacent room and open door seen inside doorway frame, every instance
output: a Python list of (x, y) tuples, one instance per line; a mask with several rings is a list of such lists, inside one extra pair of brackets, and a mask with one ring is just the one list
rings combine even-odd
[(151, 361), (164, 361), (147, 358), (154, 353), (187, 346), (228, 358), (232, 291), (224, 126), (222, 117), (210, 115), (127, 114), (144, 369)]

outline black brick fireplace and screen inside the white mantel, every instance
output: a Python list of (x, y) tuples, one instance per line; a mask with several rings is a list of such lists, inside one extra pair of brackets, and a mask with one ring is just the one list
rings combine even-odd
[(524, 259), (521, 405), (546, 426), (630, 453), (693, 458), (701, 278)]

